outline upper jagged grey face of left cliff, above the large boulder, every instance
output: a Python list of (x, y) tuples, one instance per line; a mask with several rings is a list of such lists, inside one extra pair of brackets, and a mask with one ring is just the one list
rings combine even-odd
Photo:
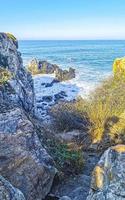
[(34, 95), (33, 82), (30, 73), (23, 67), (18, 42), (10, 34), (0, 33), (0, 68), (5, 68), (12, 74), (10, 81), (15, 94), (11, 100), (20, 103), (27, 111), (33, 112)]

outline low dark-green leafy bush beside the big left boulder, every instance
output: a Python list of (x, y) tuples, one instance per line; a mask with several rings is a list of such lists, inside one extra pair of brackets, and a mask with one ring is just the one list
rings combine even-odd
[(57, 143), (55, 140), (47, 142), (49, 154), (53, 157), (59, 172), (78, 174), (83, 170), (83, 153), (80, 149), (70, 149), (67, 144)]

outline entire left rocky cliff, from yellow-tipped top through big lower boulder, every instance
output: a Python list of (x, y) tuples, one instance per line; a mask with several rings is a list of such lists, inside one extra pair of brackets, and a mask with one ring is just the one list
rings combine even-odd
[[(50, 191), (56, 169), (28, 119), (34, 107), (33, 82), (17, 47), (14, 36), (0, 33), (0, 69), (11, 73), (8, 82), (3, 79), (6, 73), (0, 74), (0, 79), (5, 80), (0, 84), (0, 174), (25, 199), (41, 200)], [(1, 196), (5, 193), (2, 200), (24, 199), (17, 197), (13, 186), (9, 186), (10, 192), (8, 185), (4, 186), (5, 189), (0, 188)], [(10, 197), (6, 198), (7, 195)]]

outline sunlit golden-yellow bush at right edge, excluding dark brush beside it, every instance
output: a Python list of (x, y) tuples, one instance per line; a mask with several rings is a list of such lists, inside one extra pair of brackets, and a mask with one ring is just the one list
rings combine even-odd
[[(117, 134), (112, 131), (118, 125), (125, 110), (125, 81), (110, 78), (97, 88), (88, 101), (87, 113), (91, 121), (90, 133), (93, 142), (99, 142), (104, 134)], [(116, 125), (117, 124), (117, 125)]]

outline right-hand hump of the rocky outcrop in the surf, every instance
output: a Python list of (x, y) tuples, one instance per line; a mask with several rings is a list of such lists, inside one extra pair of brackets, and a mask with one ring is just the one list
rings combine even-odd
[(62, 70), (57, 68), (55, 71), (55, 77), (59, 81), (67, 81), (75, 78), (75, 69), (69, 68), (69, 70)]

